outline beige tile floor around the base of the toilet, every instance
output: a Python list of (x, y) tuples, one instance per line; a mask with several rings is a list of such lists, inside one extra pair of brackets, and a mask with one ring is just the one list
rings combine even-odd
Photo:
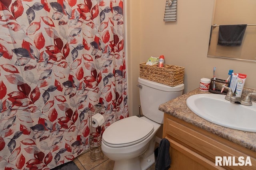
[[(91, 161), (90, 151), (81, 154), (73, 160), (76, 166), (80, 170), (112, 170), (114, 167), (114, 161), (104, 156), (104, 159)], [(148, 170), (154, 170), (155, 165), (153, 164)]]

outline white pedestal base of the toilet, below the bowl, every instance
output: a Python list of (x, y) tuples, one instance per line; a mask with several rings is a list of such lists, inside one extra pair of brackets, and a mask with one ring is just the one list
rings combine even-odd
[(115, 161), (113, 170), (146, 170), (155, 162), (154, 153), (147, 158), (132, 158), (128, 160)]

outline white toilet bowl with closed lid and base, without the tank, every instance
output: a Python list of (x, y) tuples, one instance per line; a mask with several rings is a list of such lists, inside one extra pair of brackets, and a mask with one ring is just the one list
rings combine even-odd
[[(115, 161), (114, 170), (144, 170), (154, 164), (155, 135), (160, 125), (144, 116), (131, 116), (113, 123), (111, 129), (108, 127), (101, 147)], [(115, 140), (117, 137), (120, 140)]]

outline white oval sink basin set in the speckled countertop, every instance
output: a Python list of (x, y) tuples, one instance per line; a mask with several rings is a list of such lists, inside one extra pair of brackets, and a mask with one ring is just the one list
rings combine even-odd
[(198, 116), (224, 127), (256, 132), (256, 103), (252, 106), (232, 104), (222, 94), (196, 94), (186, 100)]

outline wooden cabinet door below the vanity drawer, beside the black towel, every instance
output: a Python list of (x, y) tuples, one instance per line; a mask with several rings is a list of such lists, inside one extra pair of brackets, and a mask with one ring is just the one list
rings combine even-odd
[(176, 141), (165, 137), (170, 142), (170, 170), (224, 170), (214, 162), (188, 149)]

